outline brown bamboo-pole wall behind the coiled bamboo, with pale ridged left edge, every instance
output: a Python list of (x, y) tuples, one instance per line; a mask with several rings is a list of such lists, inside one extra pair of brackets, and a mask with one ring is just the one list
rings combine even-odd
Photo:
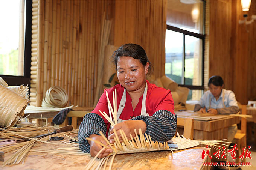
[(101, 21), (106, 2), (33, 0), (31, 104), (49, 87), (63, 87), (69, 105), (91, 106), (97, 83)]

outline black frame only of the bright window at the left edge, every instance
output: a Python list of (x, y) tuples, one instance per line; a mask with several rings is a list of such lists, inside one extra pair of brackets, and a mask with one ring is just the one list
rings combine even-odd
[(32, 0), (25, 0), (25, 35), (24, 35), (24, 71), (23, 76), (0, 75), (9, 86), (29, 85), (31, 76), (31, 40), (32, 40)]

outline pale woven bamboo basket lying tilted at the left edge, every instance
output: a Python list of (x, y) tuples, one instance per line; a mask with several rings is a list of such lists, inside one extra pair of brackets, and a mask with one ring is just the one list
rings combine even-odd
[(0, 126), (14, 126), (24, 116), (29, 101), (0, 84)]

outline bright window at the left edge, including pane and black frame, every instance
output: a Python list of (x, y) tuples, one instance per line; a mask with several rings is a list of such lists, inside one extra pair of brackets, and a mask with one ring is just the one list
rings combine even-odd
[(32, 1), (0, 1), (0, 77), (30, 84)]

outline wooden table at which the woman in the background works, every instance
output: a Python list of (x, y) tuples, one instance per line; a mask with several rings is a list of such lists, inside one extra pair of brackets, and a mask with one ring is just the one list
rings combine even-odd
[[(194, 118), (194, 139), (217, 140), (226, 139), (228, 128), (240, 122), (239, 117), (230, 115), (201, 115), (193, 111), (175, 111), (177, 117)], [(178, 127), (178, 131), (183, 131)]]

